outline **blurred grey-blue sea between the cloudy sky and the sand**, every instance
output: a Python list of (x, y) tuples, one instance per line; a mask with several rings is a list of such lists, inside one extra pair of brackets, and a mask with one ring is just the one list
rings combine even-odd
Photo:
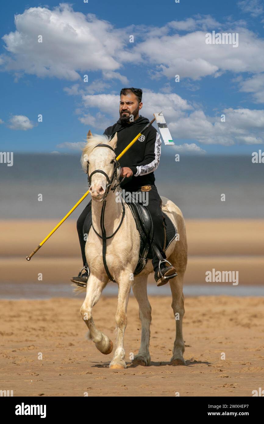
[[(61, 219), (88, 190), (80, 159), (78, 153), (15, 153), (13, 166), (0, 166), (0, 218)], [(263, 218), (258, 193), (264, 166), (253, 164), (249, 155), (180, 155), (175, 162), (173, 154), (161, 154), (155, 178), (159, 195), (170, 198), (186, 218)], [(89, 197), (73, 219), (88, 202)]]

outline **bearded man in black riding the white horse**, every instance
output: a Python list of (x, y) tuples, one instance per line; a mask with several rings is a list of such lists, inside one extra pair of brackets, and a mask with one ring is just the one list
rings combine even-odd
[[(121, 153), (127, 146), (128, 141), (136, 137), (142, 128), (145, 127), (149, 120), (139, 115), (139, 110), (142, 109), (142, 90), (135, 88), (123, 88), (120, 92), (120, 118), (113, 126), (106, 128), (104, 134), (113, 138), (117, 133), (117, 147), (115, 149), (116, 156)], [(146, 192), (147, 208), (150, 212), (153, 221), (153, 242), (156, 249), (160, 252), (157, 255), (153, 243), (152, 264), (155, 272), (155, 280), (157, 286), (167, 283), (177, 275), (173, 266), (167, 266), (167, 262), (161, 262), (160, 258), (166, 259), (165, 250), (165, 225), (164, 216), (161, 210), (161, 198), (155, 185), (154, 170), (157, 169), (161, 155), (161, 139), (153, 126), (147, 128), (147, 131), (139, 137), (129, 150), (128, 154), (119, 159), (121, 168), (121, 178), (123, 178), (120, 187), (125, 190), (125, 193), (135, 194)], [(140, 198), (140, 196), (139, 196)], [(85, 286), (89, 278), (89, 266), (85, 256), (85, 238), (83, 229), (91, 227), (92, 224), (92, 200), (81, 213), (77, 221), (77, 231), (81, 245), (81, 254), (83, 259), (83, 269), (77, 277), (71, 279), (72, 282), (78, 285)], [(160, 258), (159, 258), (159, 257)], [(84, 272), (83, 272), (84, 271)], [(166, 277), (166, 278), (164, 278)]]

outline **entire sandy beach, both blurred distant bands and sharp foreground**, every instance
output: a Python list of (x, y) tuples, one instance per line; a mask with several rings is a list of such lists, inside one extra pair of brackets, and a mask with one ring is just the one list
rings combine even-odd
[[(147, 368), (131, 366), (141, 332), (131, 297), (125, 332), (128, 368), (110, 370), (113, 354), (104, 356), (85, 338), (79, 312), (84, 295), (52, 298), (48, 293), (51, 283), (68, 286), (81, 268), (75, 221), (66, 221), (30, 262), (25, 259), (55, 225), (53, 220), (0, 221), (2, 293), (11, 293), (14, 283), (47, 284), (50, 297), (0, 301), (1, 390), (13, 390), (14, 396), (252, 396), (263, 388), (263, 297), (186, 297), (186, 366), (173, 367), (171, 298), (162, 292), (150, 296), (152, 362)], [(239, 286), (263, 286), (263, 220), (186, 220), (186, 230), (186, 286), (205, 285), (205, 272), (212, 268), (239, 271)], [(95, 323), (113, 342), (116, 305), (116, 297), (102, 296), (94, 307)]]

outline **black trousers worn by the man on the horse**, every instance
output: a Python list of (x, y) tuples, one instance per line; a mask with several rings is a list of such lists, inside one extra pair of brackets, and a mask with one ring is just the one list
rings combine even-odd
[[(137, 189), (135, 191), (139, 191), (139, 190)], [(156, 186), (152, 185), (151, 190), (145, 193), (148, 196), (147, 208), (150, 211), (150, 215), (153, 220), (153, 240), (155, 241), (158, 247), (158, 250), (161, 252), (161, 255), (164, 257), (164, 259), (166, 259), (166, 255), (164, 253), (165, 219), (161, 210), (162, 201), (158, 194), (158, 190)], [(91, 214), (92, 214), (92, 200), (89, 201), (88, 205), (83, 209), (83, 212), (81, 213), (81, 215), (79, 216), (77, 220), (77, 231), (78, 231), (78, 236), (79, 236), (79, 241), (81, 246), (83, 266), (86, 264), (86, 257), (85, 257), (86, 240), (84, 240), (84, 237), (83, 237), (83, 227), (87, 228), (87, 226), (89, 225), (89, 221), (91, 220)], [(156, 271), (156, 269), (158, 268), (159, 259), (155, 251), (153, 250), (153, 248), (152, 248), (152, 254), (153, 254), (153, 259), (152, 259), (153, 269)]]

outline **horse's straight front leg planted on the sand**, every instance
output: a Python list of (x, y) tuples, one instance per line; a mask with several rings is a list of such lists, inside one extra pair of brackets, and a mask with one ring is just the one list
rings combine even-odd
[[(131, 272), (132, 273), (132, 272)], [(131, 281), (127, 277), (129, 275), (128, 271), (125, 271), (121, 274), (119, 279), (118, 287), (118, 301), (117, 301), (117, 313), (116, 313), (116, 323), (117, 323), (117, 349), (114, 353), (114, 358), (111, 361), (110, 368), (126, 368), (126, 363), (124, 361), (125, 349), (124, 349), (124, 333), (127, 326), (127, 307), (128, 307), (128, 297), (131, 290)], [(123, 277), (123, 278), (122, 278)]]

